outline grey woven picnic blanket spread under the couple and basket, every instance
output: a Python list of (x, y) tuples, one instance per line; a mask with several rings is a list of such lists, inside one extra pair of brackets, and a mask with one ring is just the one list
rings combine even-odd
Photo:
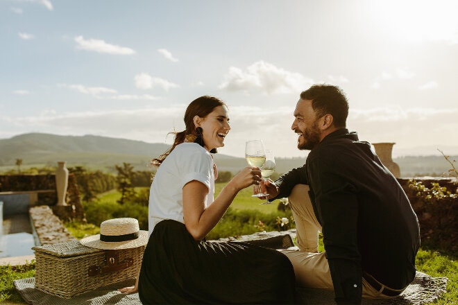
[[(363, 299), (362, 305), (422, 305), (438, 299), (446, 291), (446, 277), (430, 277), (422, 272), (416, 272), (412, 284), (398, 297), (391, 299)], [(124, 295), (118, 288), (133, 286), (134, 280), (129, 279), (117, 284), (111, 284), (96, 290), (64, 299), (56, 295), (44, 293), (35, 288), (35, 278), (17, 279), (14, 286), (25, 302), (33, 305), (142, 305), (138, 293)], [(298, 288), (300, 304), (321, 305), (335, 304), (332, 290)]]

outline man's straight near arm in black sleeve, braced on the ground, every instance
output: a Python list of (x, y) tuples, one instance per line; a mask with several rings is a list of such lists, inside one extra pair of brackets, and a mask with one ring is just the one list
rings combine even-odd
[(362, 268), (357, 246), (356, 189), (332, 162), (327, 164), (316, 158), (309, 166), (336, 302), (360, 304)]

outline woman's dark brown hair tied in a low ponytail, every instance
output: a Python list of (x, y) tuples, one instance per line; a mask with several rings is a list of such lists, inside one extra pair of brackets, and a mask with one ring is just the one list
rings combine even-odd
[(196, 128), (194, 127), (194, 116), (199, 116), (205, 118), (210, 114), (214, 108), (219, 106), (226, 106), (226, 103), (221, 101), (219, 98), (214, 96), (201, 96), (192, 101), (186, 108), (185, 112), (185, 126), (186, 129), (182, 132), (169, 132), (169, 134), (175, 134), (175, 140), (173, 141), (172, 146), (162, 155), (157, 158), (154, 158), (151, 161), (153, 166), (160, 166), (165, 158), (170, 155), (171, 151), (180, 143), (183, 143), (188, 134), (196, 135)]

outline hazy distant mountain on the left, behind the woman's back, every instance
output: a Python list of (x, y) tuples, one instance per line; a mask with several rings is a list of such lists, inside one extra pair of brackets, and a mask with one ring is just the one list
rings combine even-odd
[(83, 165), (103, 169), (128, 162), (136, 168), (146, 169), (149, 160), (168, 147), (164, 143), (93, 135), (21, 134), (0, 140), (0, 166), (12, 166), (16, 159), (22, 159), (24, 167), (55, 166), (58, 161), (66, 161), (67, 166)]

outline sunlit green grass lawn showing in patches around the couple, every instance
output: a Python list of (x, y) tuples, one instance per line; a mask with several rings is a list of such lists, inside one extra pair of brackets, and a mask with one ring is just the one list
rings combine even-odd
[[(218, 194), (225, 184), (217, 184), (215, 193)], [(262, 200), (251, 197), (253, 191), (250, 188), (242, 190), (235, 201), (232, 209), (255, 209), (263, 213), (274, 213), (277, 211), (277, 204), (260, 205)], [(117, 191), (110, 191), (100, 198), (103, 201), (119, 199)], [(67, 228), (77, 238), (98, 234), (98, 227), (94, 225), (68, 224)], [(321, 250), (323, 246), (321, 244)], [(457, 255), (447, 250), (435, 249), (432, 246), (423, 245), (416, 257), (416, 268), (432, 277), (448, 277), (447, 291), (439, 300), (430, 303), (431, 305), (458, 305), (458, 261)], [(35, 275), (35, 261), (22, 267), (0, 266), (0, 303), (1, 304), (25, 304), (12, 286), (12, 281)]]

